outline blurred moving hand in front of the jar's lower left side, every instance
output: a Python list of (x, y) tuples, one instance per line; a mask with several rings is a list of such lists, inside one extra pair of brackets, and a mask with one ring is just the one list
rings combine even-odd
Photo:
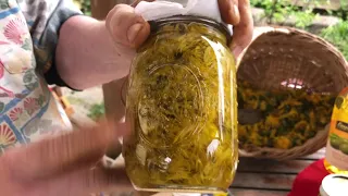
[(120, 134), (120, 127), (102, 123), (5, 151), (0, 157), (1, 195), (87, 196), (133, 191), (124, 170), (107, 170), (98, 163)]

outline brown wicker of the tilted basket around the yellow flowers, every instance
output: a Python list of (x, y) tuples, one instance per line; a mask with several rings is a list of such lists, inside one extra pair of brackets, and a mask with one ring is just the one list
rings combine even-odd
[[(348, 86), (347, 62), (327, 41), (303, 30), (287, 27), (260, 27), (254, 39), (238, 60), (238, 78), (262, 89), (282, 88), (282, 82), (301, 79), (316, 93), (337, 95)], [(241, 157), (294, 159), (323, 148), (328, 126), (318, 131), (302, 146), (290, 149), (240, 149)]]

